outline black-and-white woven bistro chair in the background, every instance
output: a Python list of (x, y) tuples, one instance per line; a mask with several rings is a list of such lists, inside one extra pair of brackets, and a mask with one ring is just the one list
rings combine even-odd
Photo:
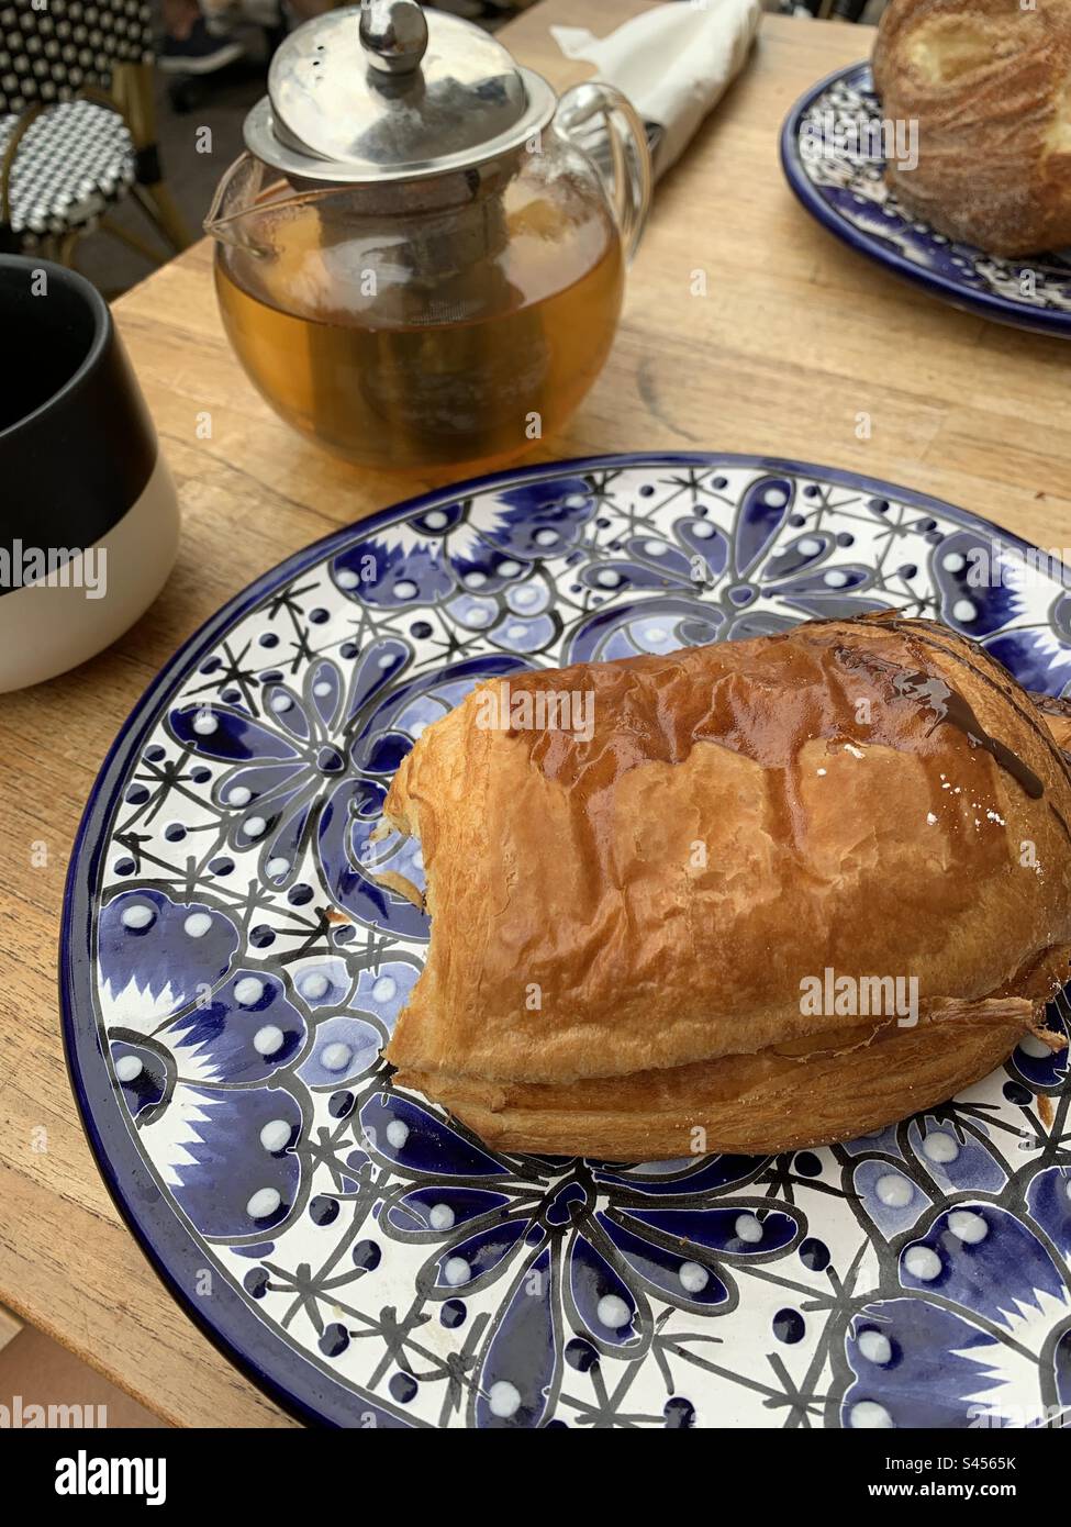
[[(0, 0), (0, 249), (70, 263), (130, 192), (185, 247), (156, 151), (151, 70), (147, 0)], [(110, 232), (159, 261), (130, 231)]]

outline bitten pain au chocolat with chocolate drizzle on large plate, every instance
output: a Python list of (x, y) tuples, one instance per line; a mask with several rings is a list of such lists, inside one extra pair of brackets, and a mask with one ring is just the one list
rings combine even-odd
[(648, 1161), (848, 1139), (1062, 1046), (1068, 733), (895, 615), (481, 686), (387, 799), (431, 913), (396, 1086)]

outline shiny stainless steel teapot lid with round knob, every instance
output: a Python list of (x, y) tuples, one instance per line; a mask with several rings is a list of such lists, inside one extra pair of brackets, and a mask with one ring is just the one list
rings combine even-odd
[(246, 147), (306, 180), (373, 183), (484, 163), (544, 127), (555, 93), (471, 21), (364, 0), (277, 50)]

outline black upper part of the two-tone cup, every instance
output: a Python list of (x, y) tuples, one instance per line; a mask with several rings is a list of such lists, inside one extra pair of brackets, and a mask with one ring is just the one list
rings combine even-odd
[(156, 467), (138, 382), (101, 293), (52, 261), (0, 255), (0, 551), (81, 551)]

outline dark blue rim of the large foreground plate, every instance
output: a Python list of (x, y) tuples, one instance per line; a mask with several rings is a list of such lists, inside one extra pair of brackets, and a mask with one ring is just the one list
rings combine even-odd
[[(125, 780), (125, 770), (151, 733), (160, 702), (193, 672), (212, 643), (273, 591), (322, 563), (333, 551), (353, 544), (354, 539), (362, 539), (435, 507), (455, 504), (463, 498), (507, 484), (521, 487), (541, 479), (626, 467), (703, 467), (712, 470), (718, 466), (775, 472), (788, 478), (816, 478), (859, 493), (889, 496), (915, 510), (938, 512), (964, 528), (984, 530), (1008, 547), (1031, 550), (1031, 544), (1014, 531), (933, 495), (903, 489), (888, 479), (871, 478), (851, 469), (825, 467), (775, 455), (718, 450), (628, 452), (512, 467), (420, 493), (342, 525), (263, 573), (211, 615), (162, 666), (122, 722), (99, 767), (72, 847), (60, 931), (61, 1032), (78, 1112), (98, 1170), (121, 1219), (179, 1307), (223, 1356), (281, 1408), (306, 1423), (339, 1428), (361, 1425), (354, 1423), (353, 1390), (335, 1379), (325, 1365), (309, 1354), (296, 1353), (283, 1342), (278, 1333), (251, 1307), (237, 1283), (229, 1281), (229, 1277), (217, 1280), (211, 1301), (199, 1299), (189, 1292), (196, 1275), (203, 1270), (203, 1248), (199, 1246), (193, 1229), (183, 1223), (176, 1206), (145, 1170), (128, 1121), (116, 1104), (107, 1069), (101, 1066), (92, 983), (81, 979), (81, 973), (96, 953), (96, 922), (92, 916), (90, 886), (96, 884), (99, 860), (107, 846), (102, 829), (116, 805), (118, 793)], [(373, 1414), (373, 1426), (403, 1429), (420, 1426), (419, 1422), (414, 1423), (393, 1408), (382, 1408), (371, 1399), (362, 1400), (362, 1411)], [(364, 1422), (364, 1425), (370, 1423)]]

